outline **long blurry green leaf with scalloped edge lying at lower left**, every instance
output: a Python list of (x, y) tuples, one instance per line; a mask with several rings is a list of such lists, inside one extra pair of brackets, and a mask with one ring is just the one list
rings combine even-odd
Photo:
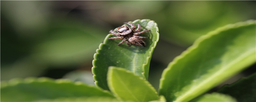
[(91, 96), (114, 98), (108, 91), (64, 79), (54, 81), (49, 78), (26, 78), (1, 82), (1, 101), (20, 102)]

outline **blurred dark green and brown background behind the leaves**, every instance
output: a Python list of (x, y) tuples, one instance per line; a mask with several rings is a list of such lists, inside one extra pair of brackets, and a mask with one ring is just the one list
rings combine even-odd
[[(158, 24), (160, 39), (150, 62), (149, 82), (158, 89), (164, 68), (198, 37), (230, 23), (256, 19), (255, 1), (0, 3), (1, 81), (51, 77), (94, 85), (93, 55), (108, 32), (124, 22), (151, 19)], [(256, 72), (255, 67), (234, 80)]]

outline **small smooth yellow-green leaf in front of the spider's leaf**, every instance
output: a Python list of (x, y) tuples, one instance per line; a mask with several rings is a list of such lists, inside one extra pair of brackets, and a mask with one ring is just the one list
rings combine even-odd
[(156, 90), (148, 81), (127, 69), (109, 67), (108, 86), (117, 98), (124, 101), (148, 102), (158, 99)]

